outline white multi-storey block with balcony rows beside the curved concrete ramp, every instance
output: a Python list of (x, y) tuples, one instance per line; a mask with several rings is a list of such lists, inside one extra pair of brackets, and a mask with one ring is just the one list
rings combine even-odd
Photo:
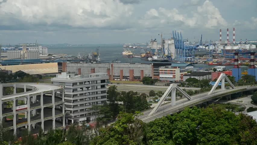
[(65, 113), (67, 124), (81, 124), (96, 119), (91, 110), (93, 105), (106, 103), (107, 73), (85, 75), (62, 74), (52, 78), (53, 84), (65, 87)]

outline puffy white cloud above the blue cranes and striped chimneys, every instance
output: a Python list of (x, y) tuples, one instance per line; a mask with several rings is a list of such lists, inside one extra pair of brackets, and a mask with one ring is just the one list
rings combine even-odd
[[(192, 0), (190, 4), (198, 4), (199, 0)], [(144, 20), (141, 24), (156, 26), (158, 23), (162, 25), (176, 25), (184, 24), (184, 26), (189, 27), (205, 27), (214, 28), (216, 26), (222, 25), (227, 26), (227, 21), (221, 16), (218, 8), (216, 8), (212, 2), (206, 0), (203, 5), (198, 6), (196, 11), (192, 11), (192, 16), (187, 14), (182, 14), (176, 8), (167, 10), (165, 8), (151, 9), (144, 15)], [(162, 27), (162, 26), (159, 26)]]

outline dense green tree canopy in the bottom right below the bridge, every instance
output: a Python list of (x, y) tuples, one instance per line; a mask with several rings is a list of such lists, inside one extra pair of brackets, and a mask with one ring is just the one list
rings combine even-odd
[(150, 122), (143, 140), (149, 145), (256, 144), (256, 125), (248, 115), (235, 115), (215, 105), (193, 107)]

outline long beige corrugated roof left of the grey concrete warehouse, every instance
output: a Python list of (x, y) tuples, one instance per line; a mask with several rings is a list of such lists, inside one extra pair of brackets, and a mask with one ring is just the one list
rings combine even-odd
[(24, 64), (13, 66), (0, 66), (3, 70), (11, 70), (13, 73), (23, 71), (28, 74), (45, 74), (58, 72), (57, 63), (39, 63), (39, 64)]

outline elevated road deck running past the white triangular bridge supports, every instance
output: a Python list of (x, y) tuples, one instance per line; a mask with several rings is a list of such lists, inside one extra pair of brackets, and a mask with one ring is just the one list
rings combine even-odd
[(257, 89), (257, 86), (240, 86), (236, 87), (235, 89), (229, 89), (225, 91), (221, 91), (221, 89), (215, 90), (213, 94), (208, 95), (208, 92), (201, 93), (198, 95), (193, 95), (192, 100), (187, 101), (186, 98), (181, 99), (179, 101), (176, 101), (176, 106), (171, 107), (171, 104), (165, 104), (160, 106), (160, 108), (157, 110), (157, 112), (151, 116), (148, 116), (148, 114), (152, 111), (152, 109), (149, 109), (147, 111), (142, 112), (143, 115), (139, 118), (143, 122), (150, 122), (155, 120), (156, 118), (161, 118), (163, 116), (166, 116), (168, 114), (173, 114), (179, 111), (182, 111), (185, 107), (192, 107), (197, 104), (201, 104), (205, 101), (218, 98), (224, 95), (233, 94), (236, 92), (242, 92), (243, 90), (252, 90)]

